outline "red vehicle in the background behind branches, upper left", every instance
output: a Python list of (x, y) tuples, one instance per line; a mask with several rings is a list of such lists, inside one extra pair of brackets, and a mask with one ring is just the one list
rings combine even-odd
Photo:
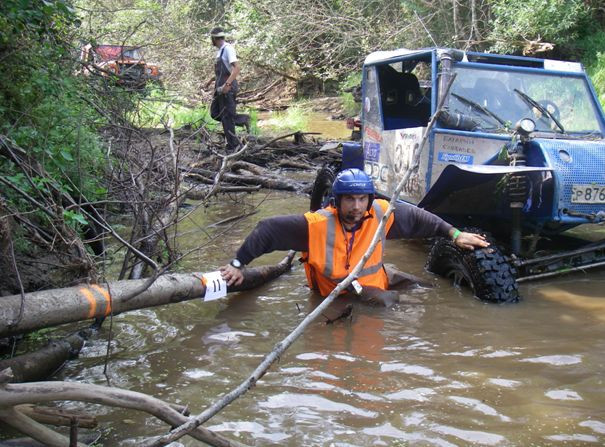
[(80, 60), (84, 74), (116, 76), (119, 83), (131, 87), (160, 79), (158, 66), (145, 62), (140, 47), (88, 44), (82, 48)]

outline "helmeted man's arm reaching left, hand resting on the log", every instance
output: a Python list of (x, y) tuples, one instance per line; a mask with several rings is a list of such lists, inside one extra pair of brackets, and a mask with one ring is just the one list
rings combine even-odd
[[(261, 220), (237, 250), (236, 259), (243, 265), (275, 250), (307, 251), (309, 228), (303, 215), (276, 216)], [(244, 280), (241, 269), (231, 264), (220, 268), (227, 285), (240, 285)]]

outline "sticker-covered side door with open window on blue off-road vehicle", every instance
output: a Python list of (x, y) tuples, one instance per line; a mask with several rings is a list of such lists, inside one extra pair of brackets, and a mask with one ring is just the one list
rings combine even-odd
[[(433, 51), (414, 52), (364, 65), (362, 144), (365, 170), (379, 194), (391, 196), (412, 169), (434, 109)], [(420, 154), (400, 197), (418, 203), (427, 189), (429, 148)]]

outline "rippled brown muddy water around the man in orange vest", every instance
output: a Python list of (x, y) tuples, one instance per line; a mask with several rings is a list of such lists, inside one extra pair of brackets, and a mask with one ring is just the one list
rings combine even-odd
[[(258, 215), (213, 242), (213, 257), (200, 255), (187, 268), (216, 268), (254, 221), (306, 204), (303, 197), (274, 194)], [(202, 211), (190, 229), (239, 213), (239, 207)], [(387, 261), (436, 287), (402, 294), (393, 309), (355, 306), (351, 321), (316, 322), (255, 389), (207, 426), (257, 446), (605, 443), (602, 271), (524, 285), (522, 303), (494, 306), (424, 272), (421, 243), (389, 242), (387, 251)], [(112, 382), (199, 412), (245, 379), (312, 306), (303, 269), (296, 267), (221, 302), (120, 316)], [(88, 346), (68, 377), (104, 383), (104, 346)], [(130, 411), (106, 410), (100, 419), (112, 428), (106, 445), (164, 429)]]

